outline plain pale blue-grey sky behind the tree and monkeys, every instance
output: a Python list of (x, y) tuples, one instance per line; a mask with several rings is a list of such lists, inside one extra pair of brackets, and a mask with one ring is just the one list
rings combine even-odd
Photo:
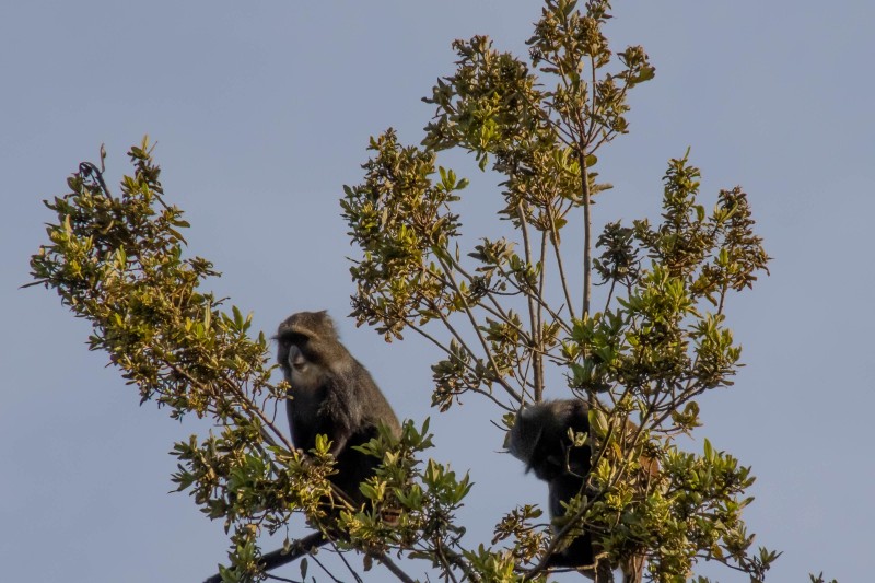
[[(752, 466), (748, 528), (784, 552), (769, 581), (821, 570), (867, 581), (875, 4), (615, 4), (612, 46), (643, 45), (656, 78), (632, 94), (631, 132), (600, 152), (600, 178), (615, 186), (600, 220), (657, 217), (666, 161), (690, 147), (702, 200), (742, 185), (773, 257), (771, 276), (727, 304), (746, 366), (732, 389), (700, 401), (692, 447), (708, 438)], [(399, 417), (431, 417), (432, 456), (476, 482), (460, 513), (469, 546), (488, 543), (514, 505), (546, 501), (497, 453), (499, 411), (474, 397), (443, 415), (429, 407), (432, 348), (387, 345), (345, 317), (354, 249), (338, 205), (342, 185), (362, 177), (370, 136), (392, 126), (419, 142), (432, 115), (420, 97), (452, 72), (454, 38), (488, 34), (524, 55), (539, 12), (534, 0), (0, 4), (4, 581), (192, 582), (225, 558), (222, 524), (170, 493), (167, 452), (208, 427), (138, 406), (106, 355), (88, 351), (86, 322), (50, 291), (20, 289), (54, 219), (40, 200), (66, 194), (102, 143), (117, 184), (147, 133), (166, 199), (192, 225), (190, 253), (223, 272), (210, 282), (218, 296), (267, 334), (291, 313), (327, 308)], [(494, 180), (465, 175), (470, 210), (489, 221)], [(466, 223), (471, 241), (487, 229)], [(701, 573), (745, 581), (714, 565)], [(365, 580), (389, 579), (377, 568)]]

